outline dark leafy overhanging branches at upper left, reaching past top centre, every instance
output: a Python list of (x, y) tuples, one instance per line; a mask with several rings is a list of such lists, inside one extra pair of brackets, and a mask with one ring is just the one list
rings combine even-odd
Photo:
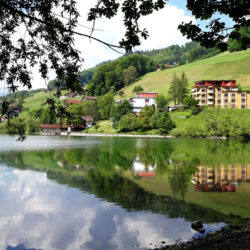
[[(164, 0), (156, 0), (148, 4), (142, 0), (134, 4), (134, 0), (104, 1), (100, 0), (91, 8), (88, 21), (93, 21), (90, 34), (76, 32), (78, 17), (74, 0), (0, 0), (0, 80), (6, 79), (12, 91), (17, 84), (32, 87), (30, 67), (39, 65), (42, 78), (46, 79), (49, 68), (56, 73), (58, 94), (61, 90), (76, 90), (79, 83), (79, 68), (82, 58), (74, 47), (74, 35), (82, 36), (103, 43), (110, 48), (124, 48), (126, 51), (140, 45), (140, 38), (146, 39), (148, 33), (141, 29), (138, 21), (141, 16), (151, 14), (154, 10), (165, 6)], [(55, 14), (59, 9), (60, 14)], [(95, 21), (98, 18), (112, 18), (122, 10), (124, 14), (125, 37), (120, 44), (112, 45), (93, 36)], [(16, 36), (20, 28), (26, 28), (26, 38)], [(64, 86), (65, 87), (64, 87)]]

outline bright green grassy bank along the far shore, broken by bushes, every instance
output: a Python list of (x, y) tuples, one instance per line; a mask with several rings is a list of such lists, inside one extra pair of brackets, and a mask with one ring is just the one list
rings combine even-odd
[[(174, 137), (250, 137), (250, 110), (205, 109), (196, 116), (191, 111), (171, 112), (176, 124), (170, 135)], [(117, 134), (111, 121), (99, 121), (97, 127), (84, 130), (83, 133)], [(158, 129), (133, 131), (129, 134), (160, 135)]]

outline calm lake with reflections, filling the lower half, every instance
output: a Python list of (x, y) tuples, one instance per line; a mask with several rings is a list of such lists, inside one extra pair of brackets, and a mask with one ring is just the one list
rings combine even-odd
[(151, 249), (250, 218), (250, 143), (0, 136), (0, 249)]

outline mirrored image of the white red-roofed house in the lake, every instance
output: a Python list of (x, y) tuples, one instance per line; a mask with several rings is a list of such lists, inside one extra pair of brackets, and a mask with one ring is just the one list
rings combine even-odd
[(140, 161), (140, 158), (137, 156), (133, 161), (133, 172), (135, 176), (138, 177), (156, 177), (156, 164), (146, 165)]

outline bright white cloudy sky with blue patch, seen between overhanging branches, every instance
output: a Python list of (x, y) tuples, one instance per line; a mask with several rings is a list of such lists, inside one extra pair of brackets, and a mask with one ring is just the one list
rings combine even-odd
[[(92, 27), (91, 22), (87, 22), (88, 10), (93, 7), (95, 1), (93, 0), (76, 0), (77, 8), (80, 12), (81, 17), (79, 18), (79, 23), (84, 26)], [(60, 11), (58, 10), (58, 13)], [(225, 17), (224, 17), (225, 18)], [(123, 38), (125, 29), (123, 26), (123, 15), (121, 12), (115, 18), (111, 20), (99, 19), (96, 22), (95, 28), (98, 29), (94, 31), (93, 36), (111, 43), (119, 44), (119, 41)], [(150, 16), (143, 17), (140, 20), (141, 28), (146, 28), (149, 32), (150, 37), (147, 40), (142, 40), (141, 46), (135, 48), (136, 50), (152, 50), (161, 49), (167, 46), (178, 44), (183, 45), (188, 40), (183, 37), (180, 31), (177, 29), (178, 25), (182, 22), (199, 23), (198, 20), (192, 16), (192, 13), (186, 9), (186, 0), (169, 0), (166, 7), (158, 12), (154, 12)], [(229, 21), (225, 18), (225, 21)], [(100, 31), (99, 31), (100, 30)], [(79, 26), (76, 31), (90, 34), (90, 29)], [(75, 37), (75, 46), (81, 51), (81, 56), (84, 58), (82, 64), (82, 70), (94, 67), (106, 60), (112, 60), (121, 56), (121, 54), (114, 52), (107, 46), (89, 40), (84, 37)], [(32, 85), (35, 88), (45, 88), (46, 84), (43, 79), (39, 76), (37, 69), (32, 69)], [(55, 79), (55, 74), (51, 71), (49, 74), (49, 79)], [(3, 83), (0, 83), (0, 95), (1, 87)]]

